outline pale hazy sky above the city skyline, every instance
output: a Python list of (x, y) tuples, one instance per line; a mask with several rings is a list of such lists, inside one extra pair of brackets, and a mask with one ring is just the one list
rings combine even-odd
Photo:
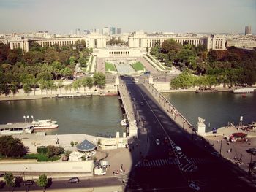
[(0, 0), (0, 33), (122, 31), (256, 34), (256, 0)]

